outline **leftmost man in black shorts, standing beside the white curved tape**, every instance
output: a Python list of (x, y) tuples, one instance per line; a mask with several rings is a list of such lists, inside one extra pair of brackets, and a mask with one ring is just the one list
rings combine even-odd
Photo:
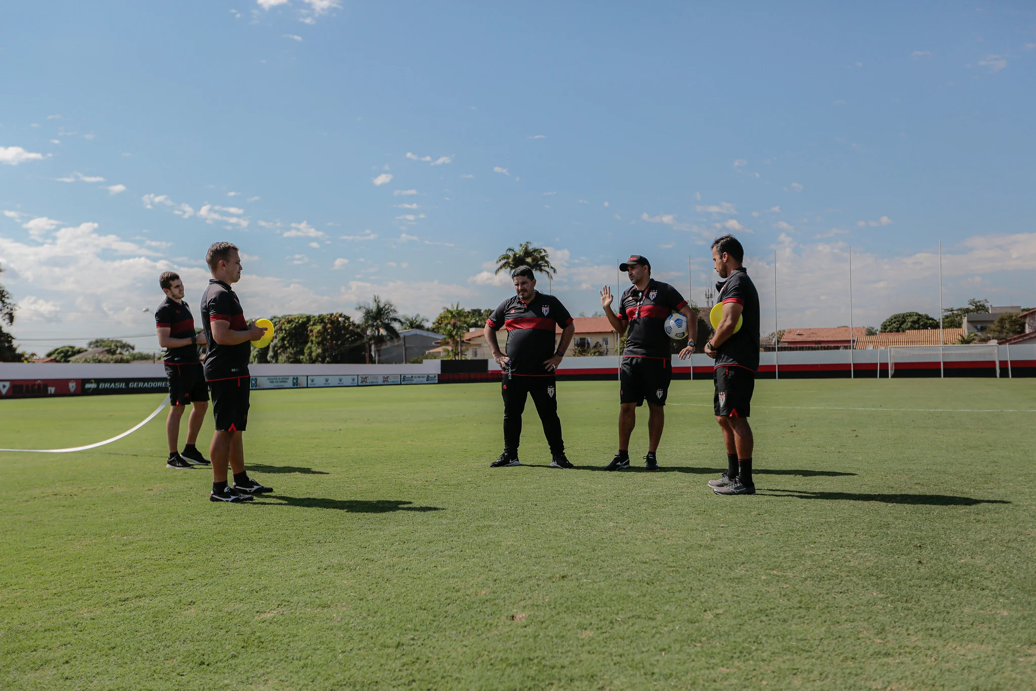
[[(159, 286), (166, 299), (154, 311), (154, 326), (159, 332), (159, 345), (166, 349), (163, 358), (169, 379), (169, 416), (166, 419), (166, 440), (169, 442), (167, 468), (190, 468), (208, 465), (195, 442), (208, 410), (208, 386), (205, 372), (198, 361), (198, 345), (205, 345), (205, 336), (195, 336), (194, 317), (183, 301), (183, 282), (173, 271), (159, 277)], [(194, 405), (188, 418), (188, 442), (183, 453), (177, 453), (180, 420), (186, 406)]]

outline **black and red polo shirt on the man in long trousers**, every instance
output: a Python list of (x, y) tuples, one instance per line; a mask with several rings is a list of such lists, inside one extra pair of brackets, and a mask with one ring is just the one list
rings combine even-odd
[(528, 303), (517, 295), (503, 300), (486, 323), (494, 332), (501, 326), (508, 329), (511, 374), (542, 376), (553, 374), (543, 362), (556, 352), (555, 326), (565, 328), (571, 324), (572, 315), (553, 295), (537, 292)]

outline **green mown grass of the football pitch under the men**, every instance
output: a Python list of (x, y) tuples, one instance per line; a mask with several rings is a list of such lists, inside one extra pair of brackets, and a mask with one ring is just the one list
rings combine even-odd
[[(597, 471), (613, 382), (558, 388), (576, 470), (531, 402), (488, 467), (497, 384), (254, 392), (251, 505), (165, 468), (164, 414), (0, 453), (0, 688), (1036, 686), (1032, 380), (759, 381), (741, 497), (711, 382), (654, 473)], [(157, 402), (3, 401), (0, 447)]]

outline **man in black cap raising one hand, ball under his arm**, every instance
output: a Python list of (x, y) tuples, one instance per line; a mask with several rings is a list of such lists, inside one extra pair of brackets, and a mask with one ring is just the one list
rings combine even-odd
[(640, 255), (631, 255), (618, 265), (626, 271), (633, 285), (618, 301), (618, 315), (611, 311), (611, 287), (601, 289), (601, 307), (611, 327), (622, 336), (627, 326), (626, 349), (618, 371), (618, 453), (606, 468), (623, 470), (630, 467), (630, 435), (637, 422), (636, 409), (648, 399), (648, 455), (644, 467), (658, 469), (655, 456), (662, 428), (665, 426), (665, 399), (672, 379), (670, 339), (665, 333), (665, 320), (673, 312), (687, 319), (688, 341), (680, 357), (690, 357), (694, 352), (694, 339), (698, 332), (698, 316), (680, 292), (668, 283), (651, 278), (651, 262)]

